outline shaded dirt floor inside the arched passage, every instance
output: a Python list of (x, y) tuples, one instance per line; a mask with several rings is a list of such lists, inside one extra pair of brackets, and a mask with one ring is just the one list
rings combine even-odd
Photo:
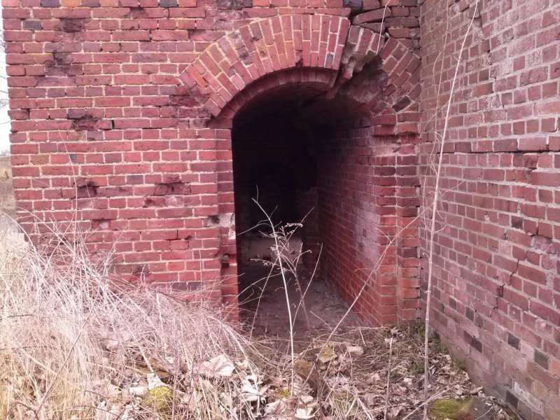
[[(286, 293), (280, 270), (270, 263), (274, 259), (272, 246), (274, 239), (258, 233), (244, 235), (241, 240), (240, 314), (249, 330), (257, 335), (287, 337), (290, 321), (286, 296), (297, 338), (309, 330), (334, 328), (342, 318), (341, 326), (356, 325), (351, 313), (344, 316), (348, 306), (335, 288), (320, 276), (311, 279), (312, 272), (302, 262), (297, 265), (297, 279), (292, 273), (286, 274)], [(301, 238), (294, 235), (289, 246), (290, 257), (295, 258), (302, 246)]]

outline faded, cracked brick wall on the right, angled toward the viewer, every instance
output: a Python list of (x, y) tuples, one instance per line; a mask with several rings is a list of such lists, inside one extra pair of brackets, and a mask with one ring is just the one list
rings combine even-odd
[[(442, 132), (436, 109), (475, 17), (444, 148), (433, 326), (472, 376), (524, 418), (559, 419), (560, 7), (476, 3), (421, 6), (423, 173)], [(433, 185), (428, 172), (427, 202)], [(427, 248), (423, 241), (422, 255)], [(422, 258), (423, 280), (426, 272)]]

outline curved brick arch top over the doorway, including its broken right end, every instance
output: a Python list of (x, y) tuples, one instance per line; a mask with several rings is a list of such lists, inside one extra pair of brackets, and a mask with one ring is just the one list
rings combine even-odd
[[(334, 94), (375, 57), (381, 59), (381, 70), (394, 82), (395, 95), (391, 96), (395, 99), (391, 101), (405, 95), (407, 103), (416, 99), (413, 86), (404, 80), (419, 68), (418, 57), (400, 41), (385, 40), (339, 15), (286, 14), (255, 19), (209, 45), (186, 67), (181, 80), (200, 93), (197, 99), (216, 117), (262, 76), (297, 68), (328, 70), (337, 74), (332, 82)], [(418, 78), (412, 80), (417, 82)]]

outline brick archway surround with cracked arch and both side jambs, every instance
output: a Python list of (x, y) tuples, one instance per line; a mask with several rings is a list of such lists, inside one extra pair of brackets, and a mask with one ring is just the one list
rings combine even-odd
[[(351, 98), (358, 104), (367, 120), (359, 130), (384, 145), (374, 147), (367, 163), (373, 168), (368, 176), (375, 192), (369, 200), (376, 227), (365, 228), (378, 230), (371, 237), (378, 238), (375, 252), (384, 257), (360, 311), (374, 323), (415, 319), (419, 307), (416, 225), (410, 225), (419, 205), (414, 153), (419, 64), (402, 42), (353, 26), (346, 18), (281, 15), (225, 34), (181, 74), (188, 94), (210, 117), (208, 127), (219, 129), (218, 210), (225, 218), (231, 218), (235, 207), (230, 129), (245, 106), (288, 85), (313, 85), (325, 98)], [(386, 238), (394, 240), (388, 252)], [(232, 258), (237, 248), (229, 230), (221, 235), (220, 253), (227, 255), (221, 270), (223, 301), (237, 302), (237, 265)], [(351, 300), (357, 288), (343, 293)]]

